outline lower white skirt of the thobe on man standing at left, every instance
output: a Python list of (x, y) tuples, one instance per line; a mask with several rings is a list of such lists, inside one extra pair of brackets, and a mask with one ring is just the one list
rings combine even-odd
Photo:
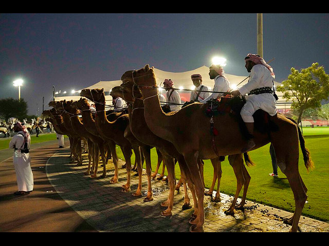
[(21, 157), (13, 156), (16, 172), (17, 187), (19, 191), (33, 190), (33, 173), (30, 166), (31, 157), (29, 153), (22, 153)]

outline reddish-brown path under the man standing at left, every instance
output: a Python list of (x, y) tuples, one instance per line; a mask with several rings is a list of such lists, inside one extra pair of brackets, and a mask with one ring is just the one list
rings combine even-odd
[[(65, 139), (66, 148), (69, 146)], [(47, 160), (58, 140), (31, 144), (33, 192), (15, 196), (17, 182), (12, 149), (0, 151), (0, 232), (97, 232), (57, 194), (47, 174)]]

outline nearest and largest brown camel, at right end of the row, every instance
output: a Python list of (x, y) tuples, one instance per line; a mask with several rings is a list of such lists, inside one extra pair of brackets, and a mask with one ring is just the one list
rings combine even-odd
[[(243, 136), (239, 122), (229, 114), (214, 115), (211, 120), (213, 127), (218, 129), (213, 139), (209, 132), (212, 122), (206, 110), (208, 104), (193, 103), (173, 114), (165, 114), (160, 108), (156, 78), (153, 67), (134, 70), (133, 81), (141, 90), (144, 101), (144, 117), (150, 130), (157, 136), (166, 139), (176, 147), (188, 165), (198, 200), (198, 214), (191, 232), (204, 231), (204, 187), (202, 177), (197, 166), (197, 159), (211, 159), (217, 155), (231, 155), (231, 161), (241, 161), (237, 154), (246, 145), (247, 139)], [(273, 145), (278, 166), (287, 176), (291, 190), (295, 197), (295, 212), (287, 223), (291, 224), (290, 232), (297, 232), (298, 222), (307, 199), (307, 188), (298, 171), (299, 145), (301, 147), (305, 167), (313, 168), (309, 151), (304, 145), (304, 138), (299, 127), (284, 115), (277, 113), (268, 118), (271, 128), (267, 132), (254, 129), (255, 146), (258, 149), (269, 142)], [(274, 129), (272, 126), (277, 126)], [(193, 134), (192, 134), (193, 133)], [(214, 140), (214, 146), (212, 145)], [(216, 147), (217, 153), (213, 147)], [(238, 184), (239, 185), (239, 184)], [(240, 192), (237, 189), (237, 192)], [(239, 195), (237, 193), (235, 198)]]

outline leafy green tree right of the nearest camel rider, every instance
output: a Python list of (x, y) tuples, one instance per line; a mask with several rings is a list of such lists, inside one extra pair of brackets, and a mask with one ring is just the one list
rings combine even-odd
[(282, 81), (277, 88), (283, 92), (286, 101), (291, 100), (291, 109), (298, 111), (297, 122), (300, 123), (303, 111), (321, 107), (321, 100), (329, 96), (329, 75), (325, 73), (323, 66), (313, 63), (312, 66), (301, 69), (290, 69), (288, 79)]

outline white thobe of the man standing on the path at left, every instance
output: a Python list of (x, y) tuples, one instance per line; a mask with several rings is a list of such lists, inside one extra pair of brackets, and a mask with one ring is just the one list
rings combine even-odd
[[(24, 134), (23, 131), (19, 133)], [(31, 138), (27, 137), (27, 148), (30, 148)], [(9, 142), (9, 148), (24, 149), (24, 137), (21, 134), (16, 134)], [(30, 153), (21, 153), (21, 157), (13, 156), (13, 164), (15, 167), (17, 187), (19, 191), (33, 190), (33, 173), (30, 166)]]

